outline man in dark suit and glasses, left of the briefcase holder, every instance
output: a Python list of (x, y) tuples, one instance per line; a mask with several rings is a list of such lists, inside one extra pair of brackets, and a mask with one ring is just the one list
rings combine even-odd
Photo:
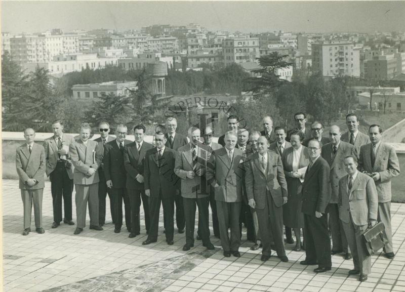
[(320, 157), (322, 144), (318, 140), (308, 143), (311, 160), (302, 184), (302, 213), (304, 213), (305, 261), (301, 265), (316, 265), (315, 273), (331, 270), (331, 241), (328, 232), (328, 204), (331, 199), (328, 162)]

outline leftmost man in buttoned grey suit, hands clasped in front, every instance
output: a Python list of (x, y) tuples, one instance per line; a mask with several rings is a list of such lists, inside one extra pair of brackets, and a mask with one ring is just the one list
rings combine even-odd
[(24, 206), (24, 231), (31, 231), (31, 210), (34, 205), (35, 231), (45, 233), (42, 228), (42, 195), (44, 193), (45, 150), (34, 143), (35, 131), (27, 128), (24, 131), (25, 143), (17, 148), (16, 168), (20, 178), (19, 187)]

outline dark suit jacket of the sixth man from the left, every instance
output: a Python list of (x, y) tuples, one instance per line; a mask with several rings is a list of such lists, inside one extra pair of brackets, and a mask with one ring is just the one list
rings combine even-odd
[(136, 141), (124, 147), (124, 165), (127, 171), (127, 189), (144, 190), (145, 184), (139, 183), (135, 178), (139, 174), (144, 176), (145, 154), (153, 148), (152, 144), (143, 141), (140, 151)]

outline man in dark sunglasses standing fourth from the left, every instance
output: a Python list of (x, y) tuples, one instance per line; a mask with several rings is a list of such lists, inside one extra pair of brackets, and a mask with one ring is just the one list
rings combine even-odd
[(113, 197), (113, 192), (111, 192), (110, 188), (107, 187), (107, 179), (105, 177), (104, 173), (104, 146), (113, 140), (115, 140), (114, 137), (111, 137), (108, 135), (110, 133), (110, 125), (106, 121), (102, 121), (98, 125), (98, 131), (100, 133), (100, 137), (97, 139), (94, 139), (98, 143), (98, 149), (100, 151), (99, 155), (101, 157), (101, 164), (99, 165), (98, 168), (98, 175), (100, 178), (100, 182), (98, 184), (98, 200), (99, 200), (99, 210), (98, 210), (98, 216), (99, 216), (99, 224), (100, 226), (103, 226), (105, 224), (105, 198), (108, 197), (110, 199), (110, 212), (111, 212), (111, 219), (112, 223), (115, 223), (115, 216), (114, 214), (114, 197)]

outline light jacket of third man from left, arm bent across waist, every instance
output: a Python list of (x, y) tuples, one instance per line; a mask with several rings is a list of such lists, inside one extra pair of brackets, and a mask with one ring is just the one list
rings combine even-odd
[(98, 172), (92, 176), (87, 176), (86, 173), (90, 168), (97, 171), (101, 163), (99, 155), (98, 143), (93, 140), (87, 141), (87, 147), (82, 140), (74, 140), (69, 145), (69, 155), (74, 166), (73, 183), (77, 185), (91, 185), (100, 181)]

